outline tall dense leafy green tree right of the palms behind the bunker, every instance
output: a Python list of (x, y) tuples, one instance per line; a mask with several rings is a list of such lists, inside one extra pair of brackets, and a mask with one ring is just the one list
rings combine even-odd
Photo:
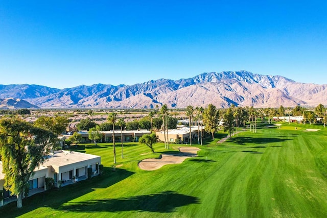
[(211, 133), (214, 140), (214, 134), (218, 130), (219, 123), (219, 111), (216, 109), (216, 106), (209, 104), (208, 107), (204, 109), (203, 122), (205, 125), (205, 131)]

